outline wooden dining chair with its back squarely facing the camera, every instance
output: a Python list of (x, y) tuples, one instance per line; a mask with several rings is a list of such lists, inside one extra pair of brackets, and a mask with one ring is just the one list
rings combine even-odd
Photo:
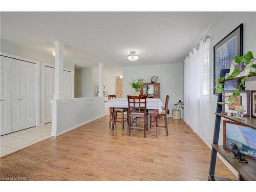
[[(146, 127), (148, 125), (148, 110), (146, 109), (146, 96), (128, 95), (127, 100), (129, 114), (129, 136), (131, 136), (131, 129), (143, 129), (144, 137), (146, 137)], [(138, 121), (137, 118), (143, 118), (143, 121)], [(143, 124), (143, 127), (137, 126), (137, 124)]]

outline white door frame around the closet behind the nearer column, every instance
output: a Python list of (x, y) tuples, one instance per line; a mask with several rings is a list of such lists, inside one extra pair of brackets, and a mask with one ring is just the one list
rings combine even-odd
[[(41, 84), (41, 93), (42, 93), (42, 123), (45, 124), (45, 68), (51, 67), (55, 69), (54, 65), (42, 62), (42, 84)], [(71, 89), (72, 89), (72, 98), (75, 98), (75, 76), (74, 70), (63, 68), (65, 71), (71, 72), (72, 82), (71, 82)]]

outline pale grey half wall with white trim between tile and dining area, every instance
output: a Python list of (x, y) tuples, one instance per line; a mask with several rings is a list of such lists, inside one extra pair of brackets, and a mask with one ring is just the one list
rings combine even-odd
[(104, 97), (53, 99), (52, 133), (57, 137), (104, 115)]

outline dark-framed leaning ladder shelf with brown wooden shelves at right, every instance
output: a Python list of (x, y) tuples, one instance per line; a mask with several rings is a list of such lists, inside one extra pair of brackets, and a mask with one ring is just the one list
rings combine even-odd
[[(256, 74), (252, 74), (249, 77), (250, 79), (254, 79), (256, 77)], [(237, 77), (232, 79), (226, 79), (220, 82), (231, 81), (231, 80), (239, 81), (242, 78), (243, 77)], [(244, 119), (240, 119), (240, 118), (230, 117), (230, 116), (221, 114), (222, 105), (218, 103), (221, 101), (222, 101), (222, 94), (218, 94), (217, 107), (216, 107), (216, 113), (215, 113), (216, 117), (215, 117), (215, 127), (214, 127), (214, 139), (212, 140), (212, 150), (211, 150), (208, 180), (209, 181), (227, 181), (228, 180), (226, 178), (215, 176), (217, 153), (219, 153), (234, 169), (237, 170), (239, 174), (238, 180), (240, 181), (256, 180), (256, 161), (255, 160), (246, 158), (246, 160), (248, 161), (247, 164), (239, 163), (237, 159), (232, 158), (233, 156), (232, 152), (224, 150), (222, 145), (218, 145), (221, 117), (229, 119), (234, 122), (239, 122), (241, 125), (249, 126), (254, 130), (256, 129), (256, 119), (253, 119), (251, 117), (245, 117)]]

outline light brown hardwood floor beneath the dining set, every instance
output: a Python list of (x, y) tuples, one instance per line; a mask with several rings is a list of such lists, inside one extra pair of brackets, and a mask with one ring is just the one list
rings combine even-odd
[[(163, 122), (163, 120), (161, 120)], [(165, 129), (128, 136), (105, 116), (1, 159), (1, 179), (28, 180), (207, 180), (210, 149), (183, 120)], [(236, 179), (218, 159), (216, 175)]]

